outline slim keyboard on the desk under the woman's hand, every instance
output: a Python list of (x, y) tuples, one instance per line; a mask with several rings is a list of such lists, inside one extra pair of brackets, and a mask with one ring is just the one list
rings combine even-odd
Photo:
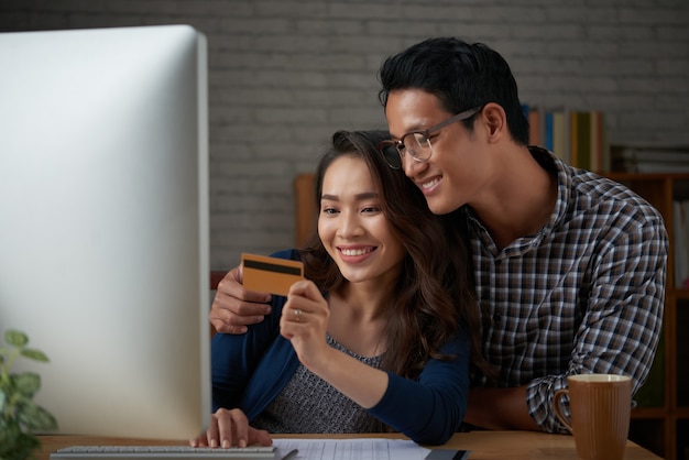
[(276, 460), (275, 446), (228, 449), (190, 446), (72, 446), (51, 452), (51, 460)]

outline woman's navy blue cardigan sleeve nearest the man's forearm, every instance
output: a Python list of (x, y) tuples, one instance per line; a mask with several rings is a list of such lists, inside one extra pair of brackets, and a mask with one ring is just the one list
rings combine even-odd
[(382, 399), (369, 413), (418, 443), (445, 443), (459, 429), (467, 412), (469, 342), (463, 332), (430, 359), (416, 381), (389, 374)]

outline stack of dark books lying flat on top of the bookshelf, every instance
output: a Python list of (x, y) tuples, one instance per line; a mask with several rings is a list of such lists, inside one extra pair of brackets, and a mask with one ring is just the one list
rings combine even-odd
[(627, 173), (689, 173), (689, 146), (612, 147), (613, 171)]

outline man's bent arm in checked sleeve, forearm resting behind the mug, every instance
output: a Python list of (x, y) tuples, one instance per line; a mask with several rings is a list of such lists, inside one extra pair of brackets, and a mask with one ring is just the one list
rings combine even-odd
[(553, 396), (567, 376), (632, 376), (634, 392), (653, 363), (663, 319), (667, 236), (658, 222), (622, 233), (601, 254), (567, 371), (518, 387), (472, 387), (464, 421), (489, 429), (564, 432)]

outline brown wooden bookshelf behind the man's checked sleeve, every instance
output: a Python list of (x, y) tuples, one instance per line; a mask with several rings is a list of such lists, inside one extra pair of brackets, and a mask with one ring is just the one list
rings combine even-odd
[(656, 207), (669, 236), (663, 336), (632, 410), (630, 439), (668, 460), (689, 460), (689, 289), (677, 285), (674, 201), (689, 199), (689, 173), (604, 173)]

